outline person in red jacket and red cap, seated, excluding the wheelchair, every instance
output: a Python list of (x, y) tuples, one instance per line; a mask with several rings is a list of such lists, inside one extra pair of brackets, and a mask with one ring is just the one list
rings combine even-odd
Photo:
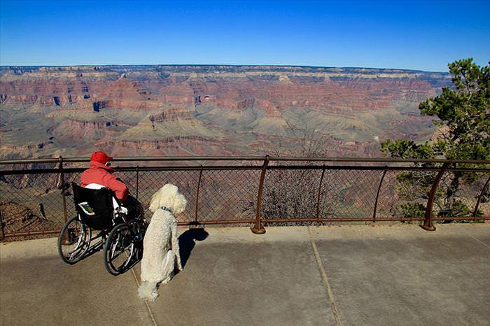
[(111, 189), (122, 206), (119, 207), (118, 202), (114, 200), (114, 208), (120, 209), (132, 220), (141, 215), (141, 204), (130, 195), (125, 183), (112, 174), (114, 171), (110, 167), (112, 159), (102, 151), (92, 153), (90, 168), (85, 170), (80, 177), (81, 186), (89, 189), (101, 189), (102, 187)]

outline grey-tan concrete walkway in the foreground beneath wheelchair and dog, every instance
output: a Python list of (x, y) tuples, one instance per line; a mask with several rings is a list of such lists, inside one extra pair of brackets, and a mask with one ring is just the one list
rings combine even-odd
[(139, 265), (69, 266), (55, 239), (0, 245), (1, 325), (490, 325), (490, 225), (181, 229), (156, 302)]

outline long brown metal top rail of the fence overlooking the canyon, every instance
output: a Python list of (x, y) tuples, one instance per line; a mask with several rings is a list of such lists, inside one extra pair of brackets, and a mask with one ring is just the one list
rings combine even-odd
[[(379, 162), (379, 163), (449, 163), (449, 164), (490, 164), (490, 160), (418, 160), (392, 157), (269, 157), (269, 156), (167, 156), (167, 157), (114, 157), (114, 162), (186, 162), (186, 161), (269, 161), (290, 162)], [(90, 162), (90, 157), (58, 157), (26, 160), (0, 160), (0, 165), (36, 163), (78, 163)]]

